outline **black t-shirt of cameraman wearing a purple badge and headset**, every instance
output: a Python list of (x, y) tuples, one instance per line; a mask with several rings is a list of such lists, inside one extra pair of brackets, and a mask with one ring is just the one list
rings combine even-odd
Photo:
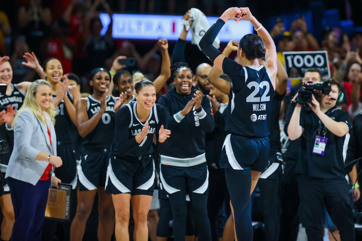
[[(326, 115), (337, 122), (344, 122), (348, 128), (352, 128), (351, 119), (347, 111), (342, 111), (336, 107), (325, 112)], [(344, 178), (344, 161), (343, 161), (343, 144), (345, 136), (338, 137), (330, 130), (324, 128), (318, 116), (312, 112), (301, 111), (300, 126), (304, 129), (304, 133), (300, 137), (300, 158), (296, 165), (295, 172), (307, 174), (312, 177), (325, 179)], [(319, 134), (319, 130), (320, 134)], [(327, 145), (324, 150), (324, 156), (313, 154), (313, 147), (316, 135), (323, 136), (323, 130), (326, 130), (325, 137), (328, 138)]]

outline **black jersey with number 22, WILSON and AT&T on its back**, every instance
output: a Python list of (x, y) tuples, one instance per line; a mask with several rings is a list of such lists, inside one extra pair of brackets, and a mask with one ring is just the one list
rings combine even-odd
[(231, 78), (225, 130), (248, 137), (268, 136), (275, 95), (268, 70), (264, 65), (241, 66), (225, 58), (223, 72)]

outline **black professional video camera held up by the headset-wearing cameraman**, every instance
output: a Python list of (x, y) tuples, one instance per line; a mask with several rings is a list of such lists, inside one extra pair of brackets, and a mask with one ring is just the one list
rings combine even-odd
[(324, 81), (313, 84), (313, 82), (309, 81), (307, 83), (302, 83), (302, 89), (298, 91), (296, 101), (299, 104), (307, 105), (308, 103), (312, 103), (312, 95), (314, 95), (314, 97), (319, 93), (328, 95), (331, 91), (332, 88), (329, 82)]

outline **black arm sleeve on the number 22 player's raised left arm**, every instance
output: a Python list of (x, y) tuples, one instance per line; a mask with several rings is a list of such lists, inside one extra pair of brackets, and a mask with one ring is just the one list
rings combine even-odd
[(222, 54), (217, 48), (215, 48), (212, 43), (220, 29), (224, 26), (225, 22), (220, 18), (216, 20), (216, 22), (206, 31), (206, 33), (202, 36), (202, 39), (199, 42), (199, 46), (202, 52), (214, 63), (216, 57)]

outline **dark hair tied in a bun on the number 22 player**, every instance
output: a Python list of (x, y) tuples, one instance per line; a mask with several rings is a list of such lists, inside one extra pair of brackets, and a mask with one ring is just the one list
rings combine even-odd
[(261, 59), (265, 56), (264, 42), (257, 34), (247, 34), (240, 39), (239, 48), (247, 59)]

